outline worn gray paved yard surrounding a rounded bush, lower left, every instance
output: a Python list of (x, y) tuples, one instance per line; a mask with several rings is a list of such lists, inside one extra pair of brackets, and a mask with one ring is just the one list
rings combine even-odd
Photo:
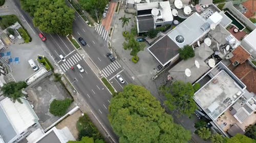
[[(63, 100), (65, 98), (71, 98), (65, 87), (60, 82), (55, 82), (54, 78), (54, 75), (48, 76), (37, 83), (31, 84), (27, 88), (29, 94), (28, 99), (34, 101), (35, 113), (44, 129), (60, 118), (53, 116), (49, 112), (50, 103), (54, 99)], [(74, 103), (72, 103), (70, 109), (74, 108), (74, 106)]]

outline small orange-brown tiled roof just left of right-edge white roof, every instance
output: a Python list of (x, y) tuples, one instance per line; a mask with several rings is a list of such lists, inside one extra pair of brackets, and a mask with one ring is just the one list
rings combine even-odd
[(242, 46), (238, 46), (236, 49), (234, 49), (232, 54), (233, 56), (230, 59), (232, 63), (237, 61), (239, 64), (243, 64), (247, 59), (250, 58), (250, 54)]

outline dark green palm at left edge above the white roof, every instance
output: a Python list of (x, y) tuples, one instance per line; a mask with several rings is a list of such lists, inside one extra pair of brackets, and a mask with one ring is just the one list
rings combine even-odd
[(13, 102), (18, 101), (19, 103), (22, 103), (22, 100), (20, 100), (20, 98), (24, 97), (22, 89), (27, 86), (25, 81), (11, 81), (4, 84), (1, 90), (3, 91), (4, 96), (10, 98)]

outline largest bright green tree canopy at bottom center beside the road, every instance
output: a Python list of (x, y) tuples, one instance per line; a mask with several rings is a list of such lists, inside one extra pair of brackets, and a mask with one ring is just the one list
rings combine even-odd
[(138, 85), (126, 85), (112, 98), (109, 110), (109, 120), (120, 143), (182, 143), (191, 138), (190, 132), (173, 123), (160, 102)]

